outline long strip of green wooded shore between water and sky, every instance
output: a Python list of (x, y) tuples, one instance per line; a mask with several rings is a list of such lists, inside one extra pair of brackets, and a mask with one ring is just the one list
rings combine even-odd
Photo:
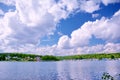
[(34, 55), (23, 53), (0, 53), (0, 61), (59, 61), (59, 60), (81, 60), (81, 59), (117, 59), (120, 53), (110, 54), (84, 54), (72, 56)]

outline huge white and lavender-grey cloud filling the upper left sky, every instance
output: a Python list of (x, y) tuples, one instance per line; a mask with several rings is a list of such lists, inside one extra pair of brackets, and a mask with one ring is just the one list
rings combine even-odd
[[(58, 3), (55, 0), (6, 1), (16, 10), (5, 13), (0, 19), (0, 39), (7, 39), (10, 44), (16, 45), (37, 44), (40, 38), (53, 34), (56, 24), (66, 19), (77, 6), (74, 6), (77, 2), (72, 0), (68, 3), (64, 0)], [(67, 7), (67, 10), (62, 7)]]

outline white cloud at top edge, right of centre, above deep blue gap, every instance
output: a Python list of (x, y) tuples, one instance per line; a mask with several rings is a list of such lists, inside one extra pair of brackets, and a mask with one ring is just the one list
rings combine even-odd
[(100, 9), (100, 4), (103, 3), (105, 6), (113, 3), (120, 3), (120, 0), (80, 0), (80, 10), (93, 13)]

